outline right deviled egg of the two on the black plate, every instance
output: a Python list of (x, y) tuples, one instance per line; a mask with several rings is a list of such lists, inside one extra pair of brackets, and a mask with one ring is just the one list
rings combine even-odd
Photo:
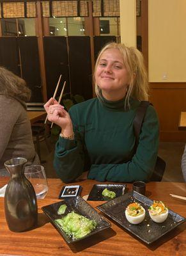
[(148, 209), (151, 220), (162, 223), (166, 220), (169, 210), (162, 201), (153, 201), (153, 204)]

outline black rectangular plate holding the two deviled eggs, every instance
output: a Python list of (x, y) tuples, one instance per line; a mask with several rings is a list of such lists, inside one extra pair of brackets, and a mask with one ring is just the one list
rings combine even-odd
[[(132, 202), (138, 202), (146, 211), (144, 220), (137, 225), (129, 223), (125, 217), (125, 209), (127, 205)], [(99, 205), (97, 208), (123, 228), (144, 241), (144, 243), (151, 244), (186, 220), (169, 209), (167, 220), (163, 223), (155, 223), (148, 214), (148, 207), (150, 207), (151, 204), (153, 204), (153, 200), (150, 200), (136, 191), (132, 191), (105, 204)]]

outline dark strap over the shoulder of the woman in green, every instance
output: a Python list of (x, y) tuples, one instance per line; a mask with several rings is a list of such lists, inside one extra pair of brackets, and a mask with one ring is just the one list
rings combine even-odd
[(136, 116), (134, 117), (133, 120), (133, 129), (134, 129), (134, 134), (136, 136), (136, 148), (139, 143), (139, 134), (141, 132), (141, 125), (143, 124), (143, 119), (146, 114), (146, 109), (151, 103), (149, 101), (141, 101), (141, 104), (137, 108), (136, 111)]

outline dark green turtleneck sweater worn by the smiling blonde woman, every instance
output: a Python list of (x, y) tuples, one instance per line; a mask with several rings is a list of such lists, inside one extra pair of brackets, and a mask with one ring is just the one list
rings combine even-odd
[(70, 108), (75, 140), (59, 136), (54, 168), (63, 182), (74, 181), (89, 170), (88, 179), (133, 182), (151, 177), (159, 145), (159, 122), (153, 106), (144, 117), (139, 145), (134, 154), (133, 120), (140, 102), (130, 99), (117, 102), (97, 98)]

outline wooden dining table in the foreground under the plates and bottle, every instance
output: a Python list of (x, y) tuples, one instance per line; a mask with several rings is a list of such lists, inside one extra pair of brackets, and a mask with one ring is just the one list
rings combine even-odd
[[(0, 187), (7, 182), (8, 178), (1, 178)], [(120, 227), (116, 222), (104, 216), (111, 223), (110, 228), (89, 236), (86, 239), (82, 239), (77, 243), (67, 244), (41, 209), (45, 205), (59, 202), (58, 195), (64, 184), (59, 179), (48, 179), (48, 183), (49, 192), (47, 196), (44, 199), (38, 200), (38, 225), (27, 232), (16, 233), (8, 229), (4, 216), (4, 198), (0, 198), (0, 255), (186, 255), (186, 223), (174, 228), (174, 230), (171, 230), (171, 232), (153, 244), (147, 245), (137, 239), (137, 237), (132, 236), (132, 234)], [(81, 185), (81, 196), (85, 196), (89, 194), (93, 184), (100, 183), (95, 180), (81, 180), (73, 184)], [(127, 188), (130, 191), (132, 184), (127, 184)], [(178, 198), (173, 198), (169, 194), (185, 196), (186, 184), (178, 182), (149, 182), (146, 184), (146, 196), (153, 200), (163, 200), (169, 209), (186, 218), (186, 202)], [(94, 208), (103, 203), (88, 201), (88, 204)], [(98, 212), (102, 214), (102, 212)]]

